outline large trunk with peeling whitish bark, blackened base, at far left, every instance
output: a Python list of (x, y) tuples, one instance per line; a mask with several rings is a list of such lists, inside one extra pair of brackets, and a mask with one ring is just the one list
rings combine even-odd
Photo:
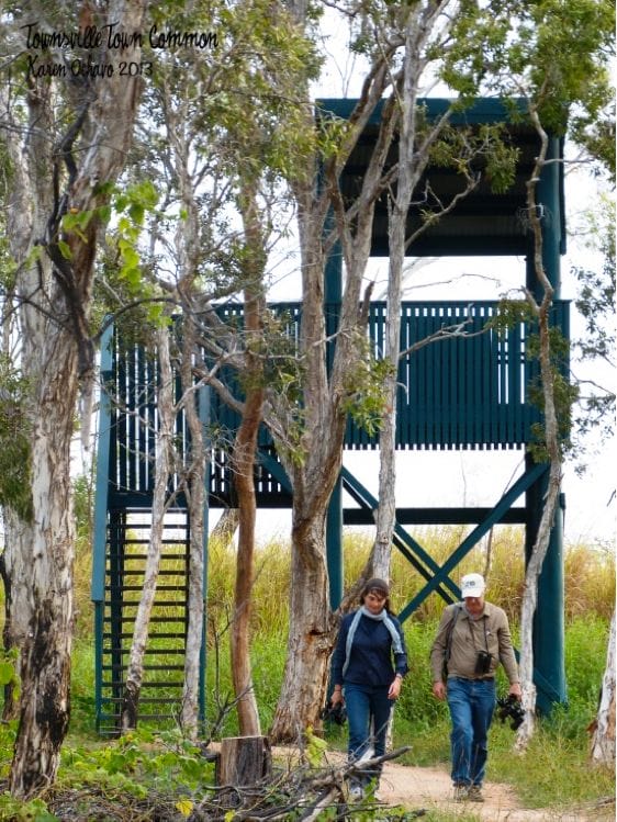
[[(112, 0), (106, 20), (101, 22), (141, 31), (144, 4), (144, 0), (130, 4)], [(26, 7), (38, 21), (38, 4)], [(66, 10), (61, 3), (55, 8), (59, 13)], [(24, 36), (25, 32), (14, 35)], [(125, 53), (125, 58), (138, 61), (139, 49)], [(15, 581), (24, 581), (19, 601), (26, 603), (29, 620), (26, 635), (20, 640), (20, 724), (10, 775), (11, 792), (20, 798), (29, 798), (54, 781), (69, 718), (74, 552), (70, 441), (79, 376), (89, 380), (92, 375), (88, 313), (100, 222), (90, 221), (85, 240), (75, 234), (66, 237), (72, 257), (65, 260), (66, 264), (60, 260), (60, 219), (64, 209), (89, 212), (103, 204), (99, 185), (113, 182), (125, 161), (139, 82), (116, 71), (109, 80), (85, 85), (83, 90), (92, 95), (88, 105), (72, 78), (32, 80), (23, 99), (13, 97), (14, 90), (8, 85), (0, 89), (3, 125), (10, 128), (5, 145), (14, 174), (8, 234), (20, 266), (20, 365), (32, 396), (27, 421), (33, 516), (19, 515), (19, 537), (8, 547), (7, 555), (12, 587)], [(61, 104), (61, 117), (57, 116), (56, 103)], [(25, 124), (21, 112), (14, 114), (13, 109), (22, 104), (27, 111)], [(75, 134), (63, 131), (67, 123)], [(74, 143), (79, 144), (75, 151)], [(33, 261), (30, 255), (34, 250), (41, 254)], [(11, 622), (23, 632), (25, 619), (15, 608)]]

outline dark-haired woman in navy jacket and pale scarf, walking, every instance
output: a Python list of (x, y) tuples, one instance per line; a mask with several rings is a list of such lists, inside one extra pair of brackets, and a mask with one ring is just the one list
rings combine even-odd
[[(371, 746), (374, 756), (385, 753), (390, 712), (407, 673), (405, 640), (401, 623), (390, 611), (388, 583), (369, 579), (360, 608), (340, 623), (332, 662), (332, 703), (345, 700), (349, 762), (360, 759)], [(360, 798), (362, 785), (373, 778), (379, 781), (380, 774), (381, 765), (372, 773), (364, 772), (364, 779), (351, 785), (350, 795)]]

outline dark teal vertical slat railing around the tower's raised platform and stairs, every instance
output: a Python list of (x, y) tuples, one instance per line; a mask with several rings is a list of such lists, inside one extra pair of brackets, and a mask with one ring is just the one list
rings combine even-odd
[[(299, 339), (301, 305), (284, 303), (272, 311), (289, 315), (288, 334)], [(428, 344), (401, 359), (397, 390), (399, 448), (521, 448), (530, 439), (530, 425), (539, 419), (539, 410), (530, 406), (528, 384), (537, 372), (527, 360), (529, 330), (518, 324), (500, 335), (496, 330), (481, 333), (494, 316), (496, 302), (405, 303), (402, 313), (401, 346), (405, 349), (435, 334), (441, 326), (470, 323), (465, 330), (472, 336)], [(221, 309), (225, 319), (242, 323), (239, 306)], [(564, 327), (568, 304), (556, 303), (553, 324)], [(368, 334), (375, 357), (384, 351), (385, 303), (370, 307)], [(566, 330), (566, 329), (565, 329)], [(156, 427), (156, 402), (153, 382), (156, 363), (139, 360), (141, 354), (117, 353), (115, 386), (120, 408), (115, 413), (116, 459), (110, 483), (119, 489), (139, 491), (149, 495), (153, 488), (152, 460)], [(225, 380), (233, 375), (221, 374)], [(232, 436), (238, 415), (212, 396), (212, 423)], [(179, 438), (186, 423), (178, 421)], [(378, 436), (369, 436), (351, 420), (346, 430), (346, 447), (375, 448)], [(260, 447), (271, 447), (265, 428)], [(223, 457), (222, 457), (223, 459)], [(144, 465), (145, 463), (145, 465)], [(213, 466), (212, 491), (223, 496), (228, 491), (227, 468)], [(265, 487), (268, 481), (263, 480)], [(277, 489), (280, 488), (277, 485)]]

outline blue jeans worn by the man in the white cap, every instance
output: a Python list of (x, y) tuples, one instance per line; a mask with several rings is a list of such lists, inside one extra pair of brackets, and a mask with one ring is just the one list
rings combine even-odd
[(494, 679), (448, 679), (452, 719), (452, 781), (482, 785), (489, 754), (487, 733), (495, 708)]

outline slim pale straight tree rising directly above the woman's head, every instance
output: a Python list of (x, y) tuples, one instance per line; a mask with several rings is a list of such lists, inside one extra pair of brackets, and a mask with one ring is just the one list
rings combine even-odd
[[(390, 560), (392, 552), (392, 537), (395, 525), (395, 431), (396, 431), (396, 386), (399, 361), (401, 351), (401, 303), (403, 285), (403, 268), (405, 256), (413, 255), (414, 243), (431, 225), (453, 211), (460, 201), (464, 200), (480, 183), (482, 177), (489, 179), (493, 190), (504, 191), (514, 180), (516, 150), (508, 147), (502, 139), (502, 127), (483, 126), (478, 134), (469, 128), (452, 130), (448, 126), (451, 110), (447, 110), (441, 120), (430, 125), (427, 131), (423, 126), (422, 112), (418, 105), (423, 64), (427, 50), (437, 44), (433, 42), (435, 22), (444, 13), (446, 4), (422, 3), (403, 7), (401, 10), (402, 35), (405, 45), (402, 56), (401, 81), (394, 90), (396, 108), (399, 110), (397, 126), (397, 159), (395, 171), (395, 187), (389, 187), (388, 196), (388, 238), (389, 238), (389, 269), (386, 289), (386, 319), (384, 360), (389, 368), (384, 370), (383, 408), (384, 413), (380, 431), (380, 472), (379, 472), (379, 507), (375, 515), (375, 539), (363, 568), (361, 578), (354, 587), (357, 596), (363, 583), (372, 577), (390, 577)], [(476, 31), (484, 25), (486, 18), (473, 9), (462, 9), (457, 21), (448, 29), (448, 40), (444, 42), (440, 52), (444, 59), (442, 74), (446, 75), (451, 56), (458, 54), (456, 45), (463, 37), (463, 32), (473, 25)], [(494, 41), (501, 42), (504, 29), (496, 29)], [(478, 79), (469, 82), (464, 97), (457, 101), (464, 108), (465, 101), (478, 93)], [(462, 94), (461, 89), (461, 94)], [(480, 164), (484, 167), (481, 172)], [(456, 167), (461, 178), (461, 189), (449, 201), (442, 202), (426, 215), (424, 222), (414, 230), (408, 230), (408, 211), (414, 195), (418, 196), (418, 185), (427, 170), (430, 160)], [(419, 196), (422, 198), (422, 193)], [(444, 327), (438, 337), (420, 340), (413, 348), (441, 341), (453, 336), (465, 336), (464, 325), (451, 328)], [(349, 597), (348, 597), (349, 599)]]

